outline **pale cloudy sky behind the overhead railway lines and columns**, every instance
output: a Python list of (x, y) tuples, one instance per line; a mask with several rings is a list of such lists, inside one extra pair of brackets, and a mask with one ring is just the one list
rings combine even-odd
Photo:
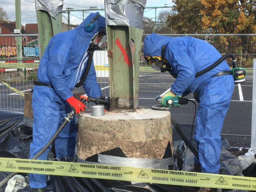
[[(167, 4), (167, 6), (172, 6), (173, 3), (170, 0), (151, 0), (147, 1), (146, 7), (160, 7)], [(15, 21), (15, 0), (0, 0), (0, 6), (4, 8), (7, 12), (11, 21)], [(104, 8), (104, 0), (64, 0), (64, 6), (62, 10), (66, 8), (78, 9), (89, 9), (89, 7)], [(165, 8), (166, 9), (166, 8)], [(157, 9), (156, 14), (162, 9)], [(170, 9), (169, 9), (170, 10)], [(95, 11), (90, 11), (95, 12)], [(88, 16), (90, 12), (84, 12), (84, 17)], [(71, 12), (70, 24), (80, 24), (83, 19), (82, 12)], [(100, 14), (104, 16), (104, 11), (100, 11)], [(67, 13), (63, 13), (67, 17)], [(145, 9), (144, 17), (153, 18), (155, 17), (155, 9)], [(21, 23), (25, 25), (26, 23), (36, 23), (36, 8), (35, 1), (33, 0), (21, 0)], [(67, 23), (67, 20), (62, 17), (62, 22)]]

